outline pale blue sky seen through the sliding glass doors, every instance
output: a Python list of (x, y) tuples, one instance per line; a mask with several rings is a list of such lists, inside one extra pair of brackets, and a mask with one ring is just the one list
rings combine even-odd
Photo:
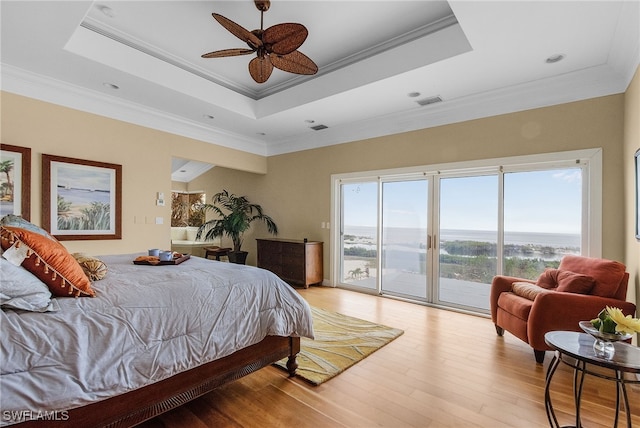
[[(505, 174), (505, 231), (579, 234), (579, 168)], [(426, 227), (426, 180), (384, 183), (385, 226)], [(345, 184), (346, 225), (375, 227), (377, 183)], [(496, 230), (498, 176), (441, 179), (442, 229)]]

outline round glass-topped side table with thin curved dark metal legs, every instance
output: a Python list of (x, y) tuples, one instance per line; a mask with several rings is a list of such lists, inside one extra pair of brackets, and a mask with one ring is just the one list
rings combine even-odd
[[(616, 410), (613, 426), (618, 426), (620, 413), (620, 397), (626, 410), (627, 427), (631, 428), (631, 409), (629, 408), (629, 397), (627, 395), (627, 384), (640, 384), (640, 380), (625, 379), (624, 373), (640, 373), (640, 348), (624, 342), (613, 344), (615, 353), (610, 359), (596, 355), (593, 349), (594, 338), (586, 333), (576, 333), (572, 331), (551, 331), (544, 335), (544, 340), (555, 350), (555, 355), (547, 369), (546, 384), (544, 389), (544, 403), (547, 411), (549, 425), (559, 428), (558, 420), (553, 411), (549, 387), (551, 378), (560, 362), (572, 367), (573, 372), (573, 394), (576, 405), (576, 424), (574, 427), (580, 428), (580, 401), (582, 399), (582, 386), (585, 375), (596, 376), (616, 382)], [(589, 366), (599, 366), (612, 371), (612, 375), (593, 371)]]

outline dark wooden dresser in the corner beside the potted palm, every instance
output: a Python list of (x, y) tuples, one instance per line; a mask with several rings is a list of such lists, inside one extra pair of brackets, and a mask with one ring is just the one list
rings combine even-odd
[(257, 239), (258, 267), (283, 280), (302, 284), (322, 282), (322, 242), (291, 239)]

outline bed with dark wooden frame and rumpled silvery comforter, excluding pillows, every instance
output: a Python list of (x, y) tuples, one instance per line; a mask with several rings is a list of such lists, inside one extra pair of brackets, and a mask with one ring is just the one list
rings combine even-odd
[(95, 297), (0, 311), (0, 425), (133, 426), (282, 358), (295, 372), (313, 327), (288, 284), (251, 266), (138, 256), (98, 257), (108, 272)]

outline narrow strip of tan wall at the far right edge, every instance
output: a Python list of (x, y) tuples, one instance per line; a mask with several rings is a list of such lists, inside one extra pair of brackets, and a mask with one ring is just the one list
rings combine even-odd
[(634, 237), (636, 216), (634, 154), (636, 150), (640, 150), (640, 68), (636, 70), (636, 75), (627, 88), (624, 111), (625, 264), (631, 274), (628, 297), (629, 300), (638, 304), (640, 296), (640, 242)]

